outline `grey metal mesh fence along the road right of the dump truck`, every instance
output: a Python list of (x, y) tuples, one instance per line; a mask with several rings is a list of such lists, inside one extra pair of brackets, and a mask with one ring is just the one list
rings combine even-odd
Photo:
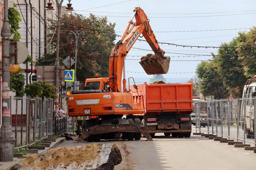
[(256, 134), (254, 118), (256, 117), (256, 98), (220, 99), (196, 101), (196, 132), (215, 134), (227, 139), (254, 143)]

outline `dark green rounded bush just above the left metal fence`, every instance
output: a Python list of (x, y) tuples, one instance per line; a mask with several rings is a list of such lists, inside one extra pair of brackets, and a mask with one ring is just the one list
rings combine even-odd
[(35, 97), (46, 97), (56, 99), (55, 86), (52, 84), (47, 84), (46, 81), (37, 81), (31, 84), (26, 85), (25, 93), (28, 96)]

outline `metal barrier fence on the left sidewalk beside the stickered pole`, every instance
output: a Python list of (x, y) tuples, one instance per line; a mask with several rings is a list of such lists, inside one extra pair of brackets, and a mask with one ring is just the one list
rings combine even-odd
[(53, 135), (53, 99), (10, 98), (14, 148), (24, 148)]

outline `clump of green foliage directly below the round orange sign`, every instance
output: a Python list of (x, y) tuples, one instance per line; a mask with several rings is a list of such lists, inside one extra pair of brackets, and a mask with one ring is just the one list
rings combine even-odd
[(15, 92), (15, 97), (24, 96), (24, 85), (26, 77), (24, 76), (22, 69), (17, 73), (10, 73), (10, 90)]

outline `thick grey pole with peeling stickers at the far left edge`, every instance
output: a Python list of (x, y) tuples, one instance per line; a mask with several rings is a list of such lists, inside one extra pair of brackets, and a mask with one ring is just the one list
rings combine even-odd
[(14, 138), (11, 130), (10, 105), (10, 25), (8, 20), (8, 0), (4, 0), (4, 23), (2, 36), (2, 127), (0, 130), (0, 161), (13, 161)]

